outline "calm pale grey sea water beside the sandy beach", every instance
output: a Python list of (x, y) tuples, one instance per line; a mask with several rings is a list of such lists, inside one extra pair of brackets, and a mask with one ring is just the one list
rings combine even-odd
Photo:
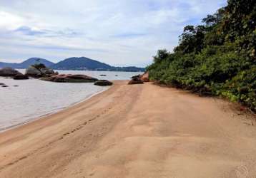
[[(24, 73), (24, 70), (20, 70)], [(58, 70), (65, 74), (85, 74), (104, 80), (129, 80), (139, 73), (99, 72), (82, 70)], [(100, 75), (106, 76), (100, 76)], [(38, 79), (13, 80), (1, 78), (0, 83), (0, 132), (10, 127), (35, 120), (79, 103), (109, 87), (96, 86), (94, 83), (51, 83)], [(18, 85), (18, 86), (15, 86)]]

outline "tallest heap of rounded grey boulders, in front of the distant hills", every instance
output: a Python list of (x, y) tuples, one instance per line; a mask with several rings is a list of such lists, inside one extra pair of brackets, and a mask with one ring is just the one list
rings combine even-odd
[(51, 75), (57, 75), (59, 73), (55, 73), (51, 68), (46, 68), (44, 64), (36, 64), (29, 66), (26, 69), (25, 75), (33, 78), (41, 78), (41, 77), (49, 77)]

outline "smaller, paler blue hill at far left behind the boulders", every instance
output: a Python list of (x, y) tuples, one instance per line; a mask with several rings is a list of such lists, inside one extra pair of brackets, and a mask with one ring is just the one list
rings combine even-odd
[(51, 61), (48, 61), (44, 58), (29, 58), (22, 63), (1, 63), (0, 62), (0, 68), (4, 68), (4, 67), (28, 68), (29, 66), (31, 66), (35, 63), (43, 63), (46, 67), (50, 67), (50, 66), (54, 65), (54, 63), (52, 63)]

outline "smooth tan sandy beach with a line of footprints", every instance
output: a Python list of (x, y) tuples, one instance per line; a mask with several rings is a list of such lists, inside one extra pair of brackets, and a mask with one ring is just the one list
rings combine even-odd
[(255, 125), (224, 100), (117, 81), (0, 133), (0, 177), (256, 177)]

